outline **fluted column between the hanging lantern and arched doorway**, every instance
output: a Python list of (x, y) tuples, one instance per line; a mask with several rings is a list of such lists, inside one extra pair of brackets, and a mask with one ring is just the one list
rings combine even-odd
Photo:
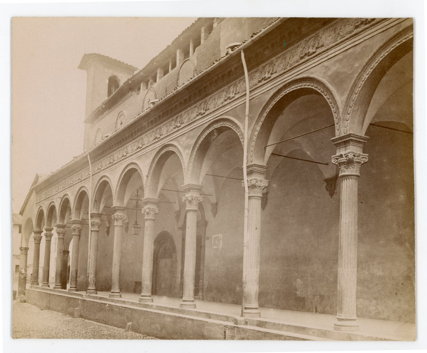
[(141, 296), (139, 301), (141, 303), (152, 302), (151, 287), (152, 287), (152, 273), (153, 273), (153, 251), (154, 251), (154, 219), (155, 214), (158, 213), (157, 203), (158, 198), (144, 198), (142, 200), (144, 208), (142, 213), (145, 214), (144, 221), (144, 244), (142, 252), (142, 283), (141, 283)]

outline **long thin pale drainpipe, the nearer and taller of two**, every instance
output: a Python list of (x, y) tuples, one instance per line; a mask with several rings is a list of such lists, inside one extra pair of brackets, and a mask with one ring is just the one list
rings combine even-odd
[(246, 67), (245, 54), (241, 51), (243, 70), (245, 71), (246, 82), (246, 111), (245, 111), (245, 131), (243, 139), (243, 185), (245, 187), (245, 215), (243, 221), (243, 276), (242, 276), (242, 316), (243, 308), (245, 307), (245, 289), (246, 289), (246, 267), (248, 257), (248, 215), (249, 215), (249, 190), (248, 190), (248, 174), (246, 171), (246, 163), (248, 158), (248, 120), (249, 120), (249, 76), (248, 68)]

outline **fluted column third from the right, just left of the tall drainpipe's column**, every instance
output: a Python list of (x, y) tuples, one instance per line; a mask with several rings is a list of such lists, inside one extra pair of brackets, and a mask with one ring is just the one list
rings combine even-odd
[(186, 204), (187, 222), (185, 230), (184, 289), (179, 307), (194, 309), (196, 308), (196, 303), (194, 303), (194, 278), (196, 276), (197, 210), (199, 202), (203, 200), (200, 196), (202, 185), (186, 184), (182, 188), (185, 191), (182, 201)]

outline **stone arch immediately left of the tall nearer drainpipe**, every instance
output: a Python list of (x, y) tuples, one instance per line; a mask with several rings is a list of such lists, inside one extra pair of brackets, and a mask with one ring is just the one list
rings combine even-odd
[(199, 184), (198, 172), (200, 168), (195, 168), (194, 165), (202, 163), (206, 150), (213, 140), (227, 130), (233, 130), (237, 134), (243, 147), (243, 129), (237, 120), (231, 117), (220, 117), (214, 120), (199, 134), (191, 150), (187, 167), (187, 175), (190, 183)]

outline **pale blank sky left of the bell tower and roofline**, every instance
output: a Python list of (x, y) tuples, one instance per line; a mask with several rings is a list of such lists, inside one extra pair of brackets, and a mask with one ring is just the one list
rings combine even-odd
[(19, 213), (37, 173), (83, 152), (85, 53), (139, 69), (196, 18), (14, 18), (12, 21), (12, 198)]

